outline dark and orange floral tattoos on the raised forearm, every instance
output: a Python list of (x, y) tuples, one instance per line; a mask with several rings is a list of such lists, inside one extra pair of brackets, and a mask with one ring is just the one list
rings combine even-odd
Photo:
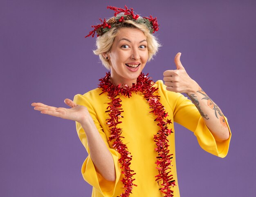
[[(216, 105), (213, 100), (211, 100), (209, 98), (209, 96), (201, 89), (199, 88), (199, 90), (197, 91), (198, 93), (204, 95), (204, 97), (202, 98), (202, 100), (207, 100), (207, 105), (214, 110), (215, 116), (220, 119), (220, 123), (224, 126), (227, 127), (227, 124), (225, 122), (224, 119), (224, 115), (222, 114), (222, 112), (220, 111), (220, 108), (218, 107), (218, 105)], [(202, 112), (200, 106), (199, 106), (199, 101), (195, 98), (196, 96), (194, 94), (188, 95), (191, 98), (191, 101), (195, 104), (195, 106), (198, 108), (199, 113), (201, 114), (202, 117), (204, 117), (206, 120), (209, 120), (209, 117), (207, 117), (207, 115), (204, 115), (204, 113)], [(219, 115), (219, 117), (218, 117)]]

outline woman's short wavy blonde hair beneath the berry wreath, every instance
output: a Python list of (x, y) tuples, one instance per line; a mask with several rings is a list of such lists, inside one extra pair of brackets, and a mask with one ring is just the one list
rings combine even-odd
[(122, 27), (137, 28), (143, 31), (148, 43), (148, 61), (153, 59), (153, 56), (157, 53), (159, 46), (161, 46), (161, 44), (157, 41), (157, 38), (150, 33), (148, 27), (145, 24), (136, 23), (132, 20), (125, 20), (124, 22), (117, 23), (115, 27), (112, 27), (108, 32), (97, 37), (97, 49), (93, 51), (95, 55), (99, 55), (102, 64), (108, 70), (110, 70), (110, 62), (109, 60), (104, 58), (103, 53), (107, 53), (110, 51), (115, 37), (119, 33), (119, 29)]

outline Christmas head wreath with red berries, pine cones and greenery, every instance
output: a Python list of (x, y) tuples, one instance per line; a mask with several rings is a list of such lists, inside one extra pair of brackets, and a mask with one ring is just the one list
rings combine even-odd
[(113, 6), (108, 6), (107, 9), (115, 11), (114, 17), (110, 18), (109, 20), (106, 20), (106, 18), (103, 20), (99, 18), (101, 24), (92, 25), (94, 29), (90, 31), (89, 34), (85, 36), (85, 38), (91, 35), (94, 37), (95, 32), (97, 33), (97, 37), (101, 36), (108, 32), (112, 27), (115, 27), (117, 24), (124, 22), (125, 20), (132, 20), (139, 24), (145, 24), (146, 27), (148, 27), (150, 33), (155, 33), (155, 31), (158, 31), (159, 29), (157, 18), (153, 18), (152, 15), (149, 15), (149, 17), (141, 17), (133, 12), (133, 8), (128, 9), (126, 5), (124, 6), (124, 9)]

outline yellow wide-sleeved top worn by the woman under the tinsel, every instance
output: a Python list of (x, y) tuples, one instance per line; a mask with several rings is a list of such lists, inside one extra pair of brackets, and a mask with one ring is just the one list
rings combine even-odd
[[(166, 86), (161, 80), (157, 81), (155, 86), (158, 87), (159, 92), (157, 94), (160, 96), (160, 102), (164, 105), (165, 111), (168, 112), (168, 119), (192, 131), (197, 137), (198, 143), (205, 151), (218, 157), (225, 157), (227, 155), (231, 133), (229, 139), (226, 141), (216, 142), (204, 124), (197, 108), (187, 97), (184, 97), (180, 93), (166, 91)], [(81, 124), (76, 122), (76, 131), (88, 152), (88, 157), (85, 159), (81, 171), (85, 181), (93, 186), (92, 197), (116, 197), (124, 192), (122, 188), (123, 183), (120, 181), (124, 174), (121, 174), (121, 164), (118, 162), (121, 155), (112, 147), (113, 141), (108, 141), (110, 130), (106, 124), (108, 113), (105, 111), (110, 100), (108, 99), (107, 93), (99, 95), (101, 92), (101, 89), (97, 88), (84, 95), (77, 94), (74, 96), (74, 102), (88, 108), (101, 137), (114, 159), (116, 180), (115, 182), (107, 181), (97, 173), (90, 158), (90, 150), (85, 131)], [(132, 97), (130, 98), (122, 95), (120, 95), (120, 98), (122, 100), (121, 104), (124, 110), (122, 116), (124, 118), (121, 118), (122, 123), (118, 124), (118, 127), (123, 129), (123, 143), (126, 144), (128, 151), (132, 154), (130, 169), (136, 173), (133, 184), (136, 184), (137, 187), (133, 186), (130, 197), (162, 197), (164, 194), (159, 191), (160, 187), (155, 181), (155, 175), (158, 175), (155, 164), (158, 155), (154, 150), (156, 145), (153, 137), (159, 130), (159, 126), (154, 122), (155, 115), (149, 113), (152, 109), (149, 108), (144, 95), (140, 92), (137, 92), (137, 94), (132, 93)], [(226, 117), (225, 121), (227, 122)], [(171, 174), (173, 174), (173, 179), (175, 179), (175, 184), (177, 185), (171, 189), (174, 190), (174, 197), (180, 197), (176, 173), (174, 125), (170, 124), (168, 128), (172, 128), (174, 132), (168, 136), (168, 144), (170, 145), (168, 148), (170, 154), (174, 154), (171, 162), (173, 165), (171, 167)]]

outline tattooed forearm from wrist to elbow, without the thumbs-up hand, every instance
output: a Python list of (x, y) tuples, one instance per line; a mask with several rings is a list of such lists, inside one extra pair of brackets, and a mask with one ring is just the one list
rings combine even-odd
[(198, 85), (197, 91), (187, 93), (191, 101), (198, 108), (204, 123), (217, 141), (229, 138), (229, 129), (220, 108)]

